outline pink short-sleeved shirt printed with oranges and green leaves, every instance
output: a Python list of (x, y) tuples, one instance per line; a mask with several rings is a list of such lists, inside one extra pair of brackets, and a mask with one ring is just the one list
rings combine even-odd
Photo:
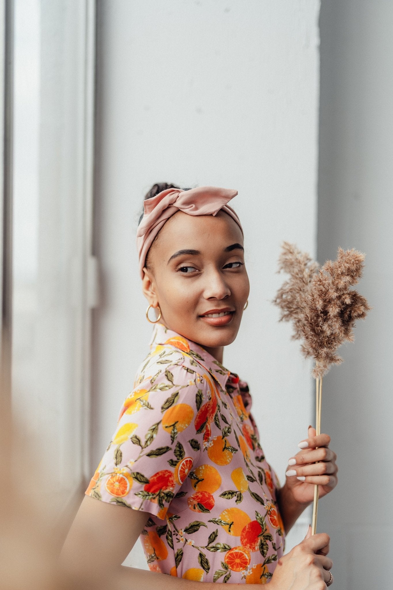
[(266, 584), (285, 549), (245, 381), (154, 324), (150, 353), (85, 494), (146, 512), (148, 567), (204, 582)]

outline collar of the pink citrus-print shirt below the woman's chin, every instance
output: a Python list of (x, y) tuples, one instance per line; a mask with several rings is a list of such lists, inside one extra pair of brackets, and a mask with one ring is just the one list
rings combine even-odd
[[(151, 335), (149, 346), (152, 349), (157, 345), (171, 345), (178, 348), (183, 354), (188, 354), (200, 363), (209, 373), (217, 379), (222, 386), (223, 391), (226, 391), (226, 383), (229, 379), (232, 383), (239, 382), (239, 376), (232, 373), (224, 367), (219, 360), (215, 359), (213, 355), (207, 352), (202, 346), (182, 336), (174, 330), (170, 330), (161, 322), (154, 325), (153, 334)], [(229, 385), (229, 383), (228, 383)]]

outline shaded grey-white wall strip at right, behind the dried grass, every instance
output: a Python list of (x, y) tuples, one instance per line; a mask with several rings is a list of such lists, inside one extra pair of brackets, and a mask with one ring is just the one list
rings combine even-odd
[(392, 22), (389, 0), (322, 2), (318, 258), (365, 252), (359, 291), (374, 306), (323, 380), (339, 482), (318, 523), (340, 590), (392, 586)]

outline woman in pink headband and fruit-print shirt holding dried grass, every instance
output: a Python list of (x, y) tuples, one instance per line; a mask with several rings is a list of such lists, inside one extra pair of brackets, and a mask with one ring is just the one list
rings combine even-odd
[[(249, 296), (243, 229), (227, 205), (236, 194), (154, 185), (144, 201), (137, 248), (150, 352), (62, 549), (75, 572), (87, 553), (94, 571), (113, 572), (112, 588), (319, 590), (333, 581), (326, 533), (309, 527), (283, 556), (314, 484), (319, 497), (336, 486), (330, 437), (309, 427), (280, 487), (247, 383), (223, 365)], [(150, 571), (121, 566), (138, 536)]]

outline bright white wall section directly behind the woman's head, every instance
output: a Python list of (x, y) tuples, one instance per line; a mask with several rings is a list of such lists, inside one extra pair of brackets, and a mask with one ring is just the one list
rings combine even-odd
[(318, 15), (319, 1), (305, 0), (98, 2), (92, 473), (148, 352), (135, 235), (154, 182), (239, 191), (231, 205), (245, 227), (250, 297), (223, 361), (249, 382), (282, 483), (315, 424), (311, 366), (269, 301), (283, 280), (282, 240), (316, 251)]

